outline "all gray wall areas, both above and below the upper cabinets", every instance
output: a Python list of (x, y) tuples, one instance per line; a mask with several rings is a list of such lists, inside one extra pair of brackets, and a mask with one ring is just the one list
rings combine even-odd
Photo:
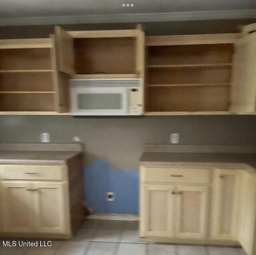
[[(207, 20), (145, 23), (147, 35), (235, 32), (256, 20)], [(66, 25), (70, 30), (131, 28), (134, 24)], [(53, 26), (0, 27), (0, 38), (48, 37)], [(0, 142), (38, 142), (49, 132), (53, 142), (77, 135), (86, 147), (86, 163), (96, 158), (116, 169), (138, 169), (143, 143), (168, 143), (180, 133), (182, 144), (255, 144), (256, 116), (170, 116), (84, 118), (71, 116), (0, 116)]]

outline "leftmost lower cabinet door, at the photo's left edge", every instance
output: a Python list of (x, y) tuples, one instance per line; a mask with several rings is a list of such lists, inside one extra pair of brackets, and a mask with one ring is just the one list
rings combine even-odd
[(1, 215), (3, 232), (27, 233), (35, 229), (35, 195), (32, 183), (2, 181)]

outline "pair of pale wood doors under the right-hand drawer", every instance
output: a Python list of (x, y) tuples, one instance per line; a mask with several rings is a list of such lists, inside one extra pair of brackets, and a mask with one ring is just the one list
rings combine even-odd
[(142, 185), (142, 235), (205, 238), (208, 223), (208, 187), (196, 185)]

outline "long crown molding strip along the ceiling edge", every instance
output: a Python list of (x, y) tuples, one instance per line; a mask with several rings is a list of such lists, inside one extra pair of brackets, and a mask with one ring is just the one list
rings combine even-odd
[(0, 26), (161, 22), (161, 21), (163, 22), (163, 21), (183, 21), (183, 20), (223, 20), (223, 19), (247, 19), (247, 18), (256, 18), (256, 9), (0, 18)]

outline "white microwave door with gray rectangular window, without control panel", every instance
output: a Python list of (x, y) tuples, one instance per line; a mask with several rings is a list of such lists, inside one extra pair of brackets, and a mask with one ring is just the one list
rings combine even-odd
[(72, 115), (112, 116), (128, 114), (124, 87), (79, 87), (71, 89)]

